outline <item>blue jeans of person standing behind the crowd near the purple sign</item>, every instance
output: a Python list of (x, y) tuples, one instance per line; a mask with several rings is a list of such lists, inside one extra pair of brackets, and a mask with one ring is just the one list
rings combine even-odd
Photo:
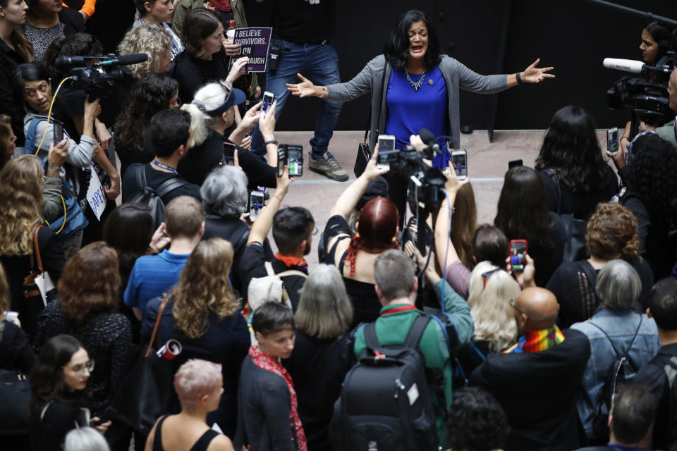
[[(297, 73), (317, 86), (341, 82), (338, 76), (338, 56), (330, 44), (294, 44), (286, 41), (281, 41), (281, 44), (282, 51), (276, 72), (266, 73), (266, 90), (275, 94), (277, 101), (276, 120), (280, 117), (289, 96), (286, 83), (300, 82), (296, 76)], [(310, 140), (312, 156), (317, 159), (322, 159), (322, 154), (327, 152), (329, 140), (334, 135), (338, 114), (341, 113), (341, 106), (343, 104), (339, 101), (322, 101), (315, 121), (315, 136)], [(266, 147), (258, 125), (252, 134), (252, 152), (258, 156), (266, 154)]]

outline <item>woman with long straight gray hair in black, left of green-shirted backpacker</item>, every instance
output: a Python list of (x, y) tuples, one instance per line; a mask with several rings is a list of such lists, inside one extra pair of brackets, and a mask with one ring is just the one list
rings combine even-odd
[(353, 338), (347, 333), (353, 304), (336, 266), (320, 264), (311, 271), (295, 321), (294, 350), (282, 364), (294, 381), (308, 450), (329, 450), (327, 426), (343, 377), (354, 363)]

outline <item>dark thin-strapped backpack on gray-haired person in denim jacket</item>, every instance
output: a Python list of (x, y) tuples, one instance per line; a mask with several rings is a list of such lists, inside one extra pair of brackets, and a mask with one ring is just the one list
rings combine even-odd
[[(592, 321), (590, 321), (590, 324), (599, 330), (602, 330), (601, 327), (597, 326), (597, 324), (593, 323)], [(606, 332), (602, 330), (602, 333), (604, 333), (607, 340), (609, 340), (611, 347), (616, 353), (616, 360), (614, 360), (614, 364), (612, 364), (611, 368), (609, 368), (609, 372), (606, 373), (606, 381), (604, 381), (604, 387), (602, 387), (602, 403), (599, 404), (599, 407), (597, 407), (597, 413), (594, 414), (592, 419), (592, 431), (594, 431), (594, 435), (596, 437), (609, 437), (609, 412), (611, 412), (611, 402), (614, 400), (614, 396), (616, 395), (616, 389), (618, 388), (618, 385), (629, 381), (631, 378), (635, 377), (635, 373), (637, 373), (637, 366), (630, 359), (628, 353), (633, 347), (633, 343), (635, 342), (635, 338), (637, 338), (640, 327), (642, 327), (642, 315), (640, 315), (640, 323), (637, 326), (637, 330), (635, 330), (633, 340), (630, 341), (628, 349), (623, 352), (623, 354), (616, 350), (614, 342), (612, 342), (611, 338), (609, 338), (609, 335), (606, 335)]]

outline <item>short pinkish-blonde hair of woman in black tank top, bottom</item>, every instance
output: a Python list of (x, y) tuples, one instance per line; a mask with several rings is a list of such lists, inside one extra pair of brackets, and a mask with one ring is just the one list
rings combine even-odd
[(181, 401), (181, 407), (195, 407), (204, 395), (214, 393), (223, 386), (221, 364), (207, 360), (190, 359), (176, 371), (174, 390)]

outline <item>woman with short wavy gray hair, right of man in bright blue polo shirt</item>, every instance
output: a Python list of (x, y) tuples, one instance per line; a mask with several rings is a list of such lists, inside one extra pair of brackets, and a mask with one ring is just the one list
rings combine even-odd
[[(249, 237), (249, 225), (240, 216), (247, 210), (247, 175), (234, 166), (215, 168), (202, 183), (200, 196), (205, 205), (205, 235), (202, 240), (219, 237), (233, 245), (233, 266), (231, 266), (231, 284), (240, 292), (243, 275), (240, 274), (240, 258), (245, 252)], [(268, 240), (264, 242), (264, 252), (272, 259), (272, 250)]]

